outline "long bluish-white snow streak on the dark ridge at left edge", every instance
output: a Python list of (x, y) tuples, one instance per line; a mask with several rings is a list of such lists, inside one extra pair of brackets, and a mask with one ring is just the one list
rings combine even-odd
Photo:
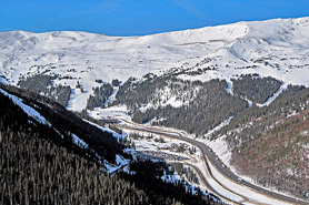
[(31, 106), (24, 104), (22, 102), (22, 99), (14, 96), (12, 94), (9, 94), (8, 92), (3, 91), (2, 89), (0, 89), (0, 92), (2, 94), (4, 94), (6, 96), (9, 96), (13, 101), (14, 104), (17, 104), (19, 107), (21, 107), (26, 114), (28, 114), (28, 116), (31, 116), (32, 119), (34, 119), (36, 121), (38, 121), (41, 124), (47, 124), (47, 125), (51, 126), (51, 124), (38, 111), (36, 111)]

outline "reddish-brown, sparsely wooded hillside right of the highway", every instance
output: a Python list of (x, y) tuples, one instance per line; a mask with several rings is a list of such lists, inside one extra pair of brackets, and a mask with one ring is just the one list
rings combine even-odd
[(308, 99), (309, 89), (289, 85), (269, 106), (253, 105), (212, 137), (226, 135), (240, 174), (308, 198)]

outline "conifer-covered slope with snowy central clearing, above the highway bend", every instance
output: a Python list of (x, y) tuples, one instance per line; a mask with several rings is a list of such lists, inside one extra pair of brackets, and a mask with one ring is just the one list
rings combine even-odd
[[(227, 92), (226, 80), (207, 82), (178, 79), (177, 75), (146, 75), (143, 80), (129, 79), (124, 82), (110, 105), (124, 104), (132, 120), (185, 130), (203, 135), (230, 116), (248, 109), (245, 99), (263, 103), (281, 85), (273, 78), (258, 74), (233, 79), (232, 93)], [(168, 103), (175, 100), (179, 105)]]

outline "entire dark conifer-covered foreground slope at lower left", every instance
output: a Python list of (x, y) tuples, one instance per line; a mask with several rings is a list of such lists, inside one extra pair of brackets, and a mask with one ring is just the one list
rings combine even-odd
[[(110, 134), (52, 100), (13, 86), (1, 89), (56, 125), (37, 122), (0, 93), (0, 204), (218, 204), (200, 192), (188, 193), (181, 183), (158, 180), (154, 174), (165, 165), (136, 162), (136, 175), (108, 175), (103, 160), (113, 162), (116, 154), (130, 157)], [(88, 147), (73, 144), (70, 133)], [(157, 172), (147, 174), (149, 170)]]

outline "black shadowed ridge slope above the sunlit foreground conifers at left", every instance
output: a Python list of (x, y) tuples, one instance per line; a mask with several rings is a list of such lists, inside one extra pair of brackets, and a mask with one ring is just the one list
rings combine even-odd
[(46, 136), (56, 144), (67, 146), (73, 151), (80, 150), (78, 146), (71, 147), (72, 134), (76, 134), (88, 144), (88, 155), (98, 163), (101, 158), (113, 163), (116, 154), (124, 155), (122, 152), (123, 146), (118, 144), (117, 140), (112, 137), (110, 133), (102, 132), (101, 130), (93, 127), (82, 119), (67, 111), (61, 104), (54, 102), (53, 100), (39, 95), (34, 92), (21, 90), (10, 85), (0, 84), (0, 89), (21, 98), (23, 103), (36, 107), (36, 110), (44, 116), (50, 124), (52, 124), (52, 127), (49, 127), (43, 126), (40, 123), (36, 123), (37, 129), (42, 131), (42, 133), (51, 133), (51, 135), (53, 135), (52, 137), (48, 134), (46, 134)]

